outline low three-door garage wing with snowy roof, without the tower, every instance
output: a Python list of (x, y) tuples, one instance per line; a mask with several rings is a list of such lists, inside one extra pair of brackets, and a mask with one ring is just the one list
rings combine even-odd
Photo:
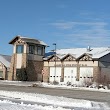
[(110, 48), (71, 48), (56, 50), (44, 58), (43, 80), (72, 85), (110, 83)]

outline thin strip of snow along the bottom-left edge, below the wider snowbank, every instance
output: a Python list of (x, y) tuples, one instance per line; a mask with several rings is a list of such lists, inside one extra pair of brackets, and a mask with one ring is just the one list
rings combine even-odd
[(0, 101), (0, 110), (70, 110), (62, 107), (41, 106), (31, 104), (18, 104), (8, 100)]

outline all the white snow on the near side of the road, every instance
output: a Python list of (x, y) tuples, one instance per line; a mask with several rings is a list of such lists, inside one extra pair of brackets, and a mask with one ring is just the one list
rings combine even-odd
[[(105, 103), (35, 93), (0, 90), (0, 97), (21, 100), (21, 104), (0, 101), (0, 110), (110, 110)], [(36, 105), (26, 105), (23, 101), (36, 102)]]

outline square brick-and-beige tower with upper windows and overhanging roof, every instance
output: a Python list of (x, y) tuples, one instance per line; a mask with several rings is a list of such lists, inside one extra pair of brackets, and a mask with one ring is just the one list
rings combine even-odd
[(41, 81), (45, 44), (41, 40), (16, 36), (9, 44), (13, 45), (13, 55), (9, 80)]

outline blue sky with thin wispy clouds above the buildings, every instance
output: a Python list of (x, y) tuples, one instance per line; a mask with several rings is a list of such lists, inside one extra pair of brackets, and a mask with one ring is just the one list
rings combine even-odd
[(110, 46), (110, 0), (0, 0), (0, 54), (16, 35), (57, 48)]

